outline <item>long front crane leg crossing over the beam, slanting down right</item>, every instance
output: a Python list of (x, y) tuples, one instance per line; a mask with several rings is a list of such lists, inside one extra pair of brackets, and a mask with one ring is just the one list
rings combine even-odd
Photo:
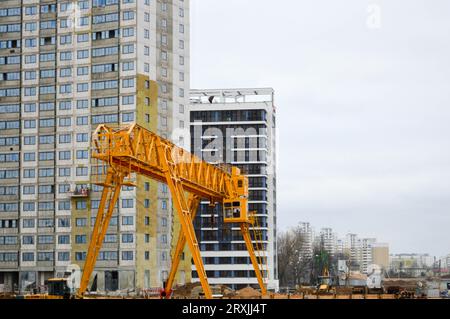
[(156, 141), (156, 147), (161, 161), (160, 164), (163, 167), (164, 175), (167, 180), (167, 185), (169, 186), (170, 192), (172, 194), (173, 204), (175, 205), (178, 216), (180, 218), (181, 227), (184, 236), (186, 237), (186, 241), (189, 245), (198, 277), (200, 278), (203, 292), (207, 299), (212, 299), (211, 288), (209, 287), (205, 267), (200, 255), (200, 247), (197, 241), (197, 237), (195, 236), (194, 226), (192, 225), (192, 214), (189, 211), (189, 206), (186, 201), (186, 197), (184, 196), (185, 191), (177, 172), (176, 163), (174, 162), (174, 154), (171, 154), (170, 148), (167, 148), (163, 143), (161, 143), (161, 139), (159, 137)]

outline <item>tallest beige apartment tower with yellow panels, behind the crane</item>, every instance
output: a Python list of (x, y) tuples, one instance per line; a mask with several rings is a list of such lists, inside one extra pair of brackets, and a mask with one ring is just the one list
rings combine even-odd
[[(188, 123), (189, 60), (188, 0), (1, 1), (0, 285), (83, 266), (101, 195), (98, 124), (137, 122), (189, 148), (173, 134)], [(169, 270), (167, 187), (134, 180), (99, 255), (99, 290), (158, 287)]]

